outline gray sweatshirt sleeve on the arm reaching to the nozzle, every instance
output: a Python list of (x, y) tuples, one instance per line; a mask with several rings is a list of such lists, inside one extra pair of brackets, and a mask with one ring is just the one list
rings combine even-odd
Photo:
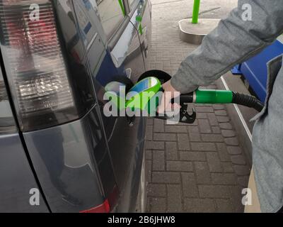
[[(242, 18), (244, 4), (251, 6), (251, 21)], [(181, 63), (171, 84), (181, 93), (207, 86), (234, 65), (258, 54), (282, 33), (283, 0), (239, 0), (238, 8)]]

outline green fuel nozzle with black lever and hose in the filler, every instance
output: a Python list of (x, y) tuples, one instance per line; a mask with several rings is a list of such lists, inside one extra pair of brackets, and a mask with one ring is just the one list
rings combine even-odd
[[(132, 86), (128, 92), (121, 91), (122, 82), (110, 82), (106, 85), (106, 96), (119, 109), (131, 109), (132, 111), (146, 111), (149, 116), (170, 120), (166, 114), (157, 113), (157, 108), (161, 104), (163, 88), (161, 81), (156, 77), (146, 77), (141, 79), (137, 84)], [(126, 94), (127, 93), (127, 94)], [(196, 112), (193, 109), (192, 114), (187, 113), (187, 104), (239, 104), (248, 106), (262, 111), (263, 104), (254, 96), (246, 94), (238, 94), (237, 92), (226, 90), (209, 90), (197, 89), (190, 94), (181, 94), (180, 99), (172, 99), (179, 101), (180, 105), (180, 122), (193, 123), (196, 118)]]

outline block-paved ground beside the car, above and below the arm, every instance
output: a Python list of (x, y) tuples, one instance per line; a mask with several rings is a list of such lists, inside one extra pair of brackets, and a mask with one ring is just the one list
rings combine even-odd
[[(181, 41), (178, 30), (178, 21), (191, 16), (192, 0), (151, 1), (149, 68), (174, 74), (180, 62), (197, 48)], [(203, 1), (200, 17), (224, 18), (236, 4), (237, 0)], [(241, 79), (237, 82), (242, 83)], [(209, 88), (217, 87), (212, 84)], [(225, 105), (195, 109), (197, 121), (192, 125), (148, 120), (146, 211), (243, 212), (241, 192), (248, 186), (250, 164), (240, 143), (242, 135), (231, 121), (234, 116)]]

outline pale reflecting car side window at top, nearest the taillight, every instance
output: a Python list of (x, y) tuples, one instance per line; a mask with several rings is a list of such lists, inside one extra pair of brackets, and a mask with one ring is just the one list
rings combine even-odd
[(96, 0), (96, 4), (105, 34), (110, 38), (125, 15), (122, 0)]

